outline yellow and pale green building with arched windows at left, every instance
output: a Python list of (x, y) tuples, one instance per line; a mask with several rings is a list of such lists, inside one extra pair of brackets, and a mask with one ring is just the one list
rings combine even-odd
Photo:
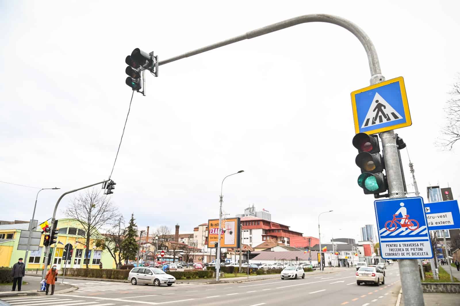
[[(19, 236), (22, 230), (27, 230), (29, 223), (22, 224), (6, 224), (0, 225), (0, 266), (13, 266), (18, 258), (24, 258), (25, 252), (18, 250)], [(101, 250), (95, 246), (95, 237), (90, 240), (90, 250), (85, 257), (86, 232), (81, 224), (75, 219), (59, 219), (57, 223), (57, 241), (52, 245), (51, 262), (57, 265), (57, 268), (63, 267), (65, 264), (64, 246), (67, 243), (72, 244), (72, 258), (67, 260), (67, 267), (70, 268), (86, 268), (88, 261), (89, 268), (98, 268), (99, 263), (103, 263), (104, 269), (115, 269), (115, 261), (110, 256), (107, 250)], [(41, 231), (41, 229), (40, 229)], [(42, 269), (45, 262), (43, 247), (43, 238), (45, 233), (41, 235), (40, 247), (38, 251), (29, 251), (28, 259), (24, 258), (27, 269)]]

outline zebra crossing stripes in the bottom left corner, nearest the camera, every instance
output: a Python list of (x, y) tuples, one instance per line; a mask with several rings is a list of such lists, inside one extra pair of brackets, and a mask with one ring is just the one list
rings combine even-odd
[(40, 296), (25, 296), (25, 297), (11, 297), (2, 298), (3, 301), (11, 305), (17, 306), (110, 306), (113, 303), (104, 303), (99, 301), (91, 301), (75, 298), (61, 298), (54, 297), (53, 295), (40, 295)]

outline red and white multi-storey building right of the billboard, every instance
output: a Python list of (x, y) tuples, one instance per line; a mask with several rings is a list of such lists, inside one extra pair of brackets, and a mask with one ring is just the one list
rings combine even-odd
[(301, 232), (291, 231), (288, 225), (254, 216), (242, 217), (241, 223), (243, 225), (242, 242), (251, 247), (270, 239), (289, 246), (291, 244), (291, 238), (302, 237)]

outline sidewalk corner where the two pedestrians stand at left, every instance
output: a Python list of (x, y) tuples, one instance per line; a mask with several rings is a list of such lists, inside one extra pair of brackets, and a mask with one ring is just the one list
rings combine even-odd
[[(40, 279), (41, 277), (23, 277), (23, 281), (27, 284), (22, 285), (21, 291), (11, 291), (11, 285), (2, 285), (0, 286), (0, 299), (7, 296), (23, 296), (23, 295), (45, 295), (45, 292), (40, 292)], [(57, 278), (59, 281), (59, 278)], [(77, 287), (69, 284), (61, 284), (60, 282), (56, 283), (54, 294), (62, 294), (70, 291), (74, 291)]]

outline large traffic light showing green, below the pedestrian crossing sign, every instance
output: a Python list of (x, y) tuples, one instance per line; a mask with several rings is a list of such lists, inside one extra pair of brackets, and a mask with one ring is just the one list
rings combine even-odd
[(386, 176), (383, 173), (385, 162), (380, 155), (379, 137), (358, 133), (353, 137), (352, 143), (358, 150), (355, 163), (361, 169), (358, 185), (363, 189), (364, 194), (374, 194), (378, 197), (379, 193), (388, 189)]

